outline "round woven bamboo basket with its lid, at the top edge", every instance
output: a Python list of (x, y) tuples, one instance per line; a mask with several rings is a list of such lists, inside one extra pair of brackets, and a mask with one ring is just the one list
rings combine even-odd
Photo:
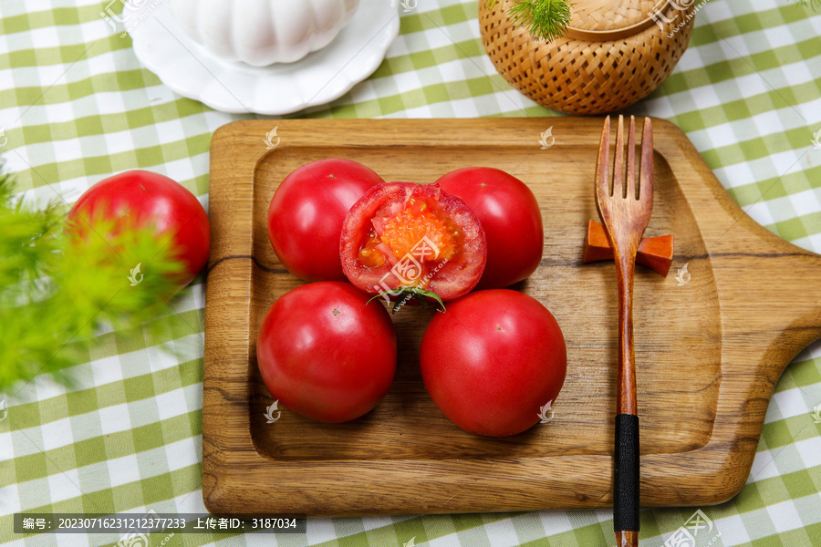
[(511, 22), (512, 5), (479, 1), (485, 51), (514, 88), (569, 114), (605, 114), (650, 95), (687, 49), (696, 11), (695, 0), (575, 0), (566, 35), (546, 42)]

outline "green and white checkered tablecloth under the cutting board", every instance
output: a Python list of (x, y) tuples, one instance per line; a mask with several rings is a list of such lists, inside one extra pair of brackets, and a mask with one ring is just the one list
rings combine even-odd
[[(182, 98), (140, 66), (100, 0), (2, 0), (0, 147), (22, 191), (69, 203), (121, 170), (156, 170), (207, 206), (214, 129), (243, 116)], [(483, 53), (475, 0), (413, 0), (373, 76), (306, 118), (554, 116)], [(816, 3), (817, 4), (817, 3)], [(712, 0), (670, 78), (629, 110), (683, 129), (733, 199), (821, 253), (821, 15), (792, 0)], [(819, 134), (821, 135), (821, 134)], [(819, 138), (821, 139), (821, 138)], [(819, 273), (821, 282), (821, 273)], [(101, 336), (77, 386), (49, 377), (0, 394), (0, 543), (99, 545), (117, 534), (13, 532), (40, 512), (203, 512), (203, 277), (171, 302), (166, 345)], [(2, 328), (2, 325), (0, 325)], [(821, 545), (821, 343), (774, 389), (749, 480), (714, 507), (641, 513), (641, 545)], [(696, 513), (696, 510), (701, 511)], [(694, 518), (693, 518), (694, 517)], [(692, 523), (696, 522), (696, 526)], [(699, 526), (698, 523), (701, 522)], [(709, 526), (708, 526), (709, 525)], [(306, 534), (153, 538), (159, 545), (592, 546), (610, 511), (317, 519)]]

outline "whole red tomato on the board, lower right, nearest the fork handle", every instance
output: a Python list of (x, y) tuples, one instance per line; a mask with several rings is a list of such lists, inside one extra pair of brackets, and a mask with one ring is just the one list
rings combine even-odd
[(547, 308), (509, 289), (476, 291), (433, 316), (422, 336), (422, 380), (471, 433), (505, 437), (539, 421), (565, 381), (565, 338)]

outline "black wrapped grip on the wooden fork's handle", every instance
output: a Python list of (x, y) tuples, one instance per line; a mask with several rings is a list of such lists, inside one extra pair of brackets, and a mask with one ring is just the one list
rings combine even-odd
[(613, 529), (639, 531), (639, 417), (616, 417)]

